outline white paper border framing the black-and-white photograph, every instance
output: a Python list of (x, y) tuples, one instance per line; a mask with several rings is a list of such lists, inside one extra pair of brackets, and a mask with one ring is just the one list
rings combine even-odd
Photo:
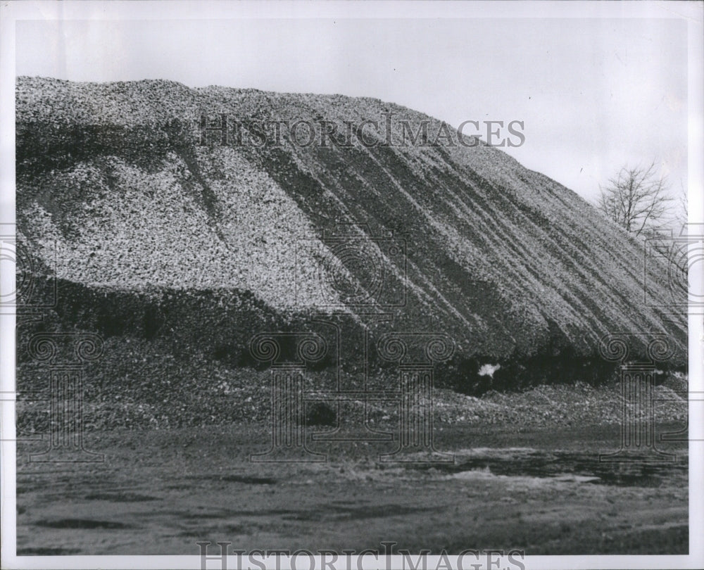
[[(15, 217), (15, 23), (19, 20), (198, 20), (237, 18), (675, 18), (686, 20), (689, 53), (689, 223), (704, 222), (704, 28), (703, 4), (693, 1), (9, 1), (0, 6), (0, 222)], [(704, 293), (704, 276), (691, 273), (690, 290)], [(15, 388), (15, 317), (0, 315), (0, 391)], [(691, 391), (704, 392), (704, 319), (689, 317)], [(17, 557), (14, 402), (1, 401), (1, 560), (7, 569), (194, 569), (199, 555)], [(704, 406), (689, 404), (689, 555), (531, 556), (538, 569), (699, 569), (704, 567)], [(195, 551), (194, 545), (194, 551)], [(353, 557), (354, 559), (354, 557)], [(453, 562), (456, 557), (448, 557)], [(236, 567), (229, 557), (228, 568)], [(394, 562), (401, 564), (400, 557)], [(429, 556), (428, 566), (439, 562)], [(355, 562), (356, 563), (356, 562)], [(384, 566), (384, 561), (379, 564)], [(210, 567), (210, 565), (208, 566)], [(213, 566), (214, 567), (214, 566)], [(282, 569), (290, 566), (284, 561)], [(360, 568), (373, 568), (365, 558)]]

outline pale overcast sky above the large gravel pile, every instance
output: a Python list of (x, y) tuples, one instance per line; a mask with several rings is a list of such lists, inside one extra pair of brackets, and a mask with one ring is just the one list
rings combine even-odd
[(589, 200), (652, 161), (686, 188), (687, 36), (675, 19), (25, 21), (16, 72), (372, 96), (453, 126), (524, 121), (522, 164)]

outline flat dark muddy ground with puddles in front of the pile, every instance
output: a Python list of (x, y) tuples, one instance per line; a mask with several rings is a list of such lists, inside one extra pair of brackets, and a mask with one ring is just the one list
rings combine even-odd
[(203, 540), (685, 554), (686, 445), (660, 444), (677, 458), (661, 465), (600, 462), (619, 437), (618, 426), (445, 426), (435, 448), (453, 461), (436, 464), (384, 462), (389, 443), (350, 442), (313, 442), (326, 462), (253, 463), (265, 424), (87, 433), (102, 463), (30, 463), (46, 443), (19, 443), (18, 555), (197, 555)]

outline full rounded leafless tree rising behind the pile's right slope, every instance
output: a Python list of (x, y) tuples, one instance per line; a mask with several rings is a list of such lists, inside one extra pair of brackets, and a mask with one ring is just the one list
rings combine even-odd
[(623, 167), (607, 186), (599, 189), (598, 208), (636, 236), (664, 220), (670, 212), (672, 198), (667, 195), (665, 180), (655, 173), (655, 163), (647, 168)]

